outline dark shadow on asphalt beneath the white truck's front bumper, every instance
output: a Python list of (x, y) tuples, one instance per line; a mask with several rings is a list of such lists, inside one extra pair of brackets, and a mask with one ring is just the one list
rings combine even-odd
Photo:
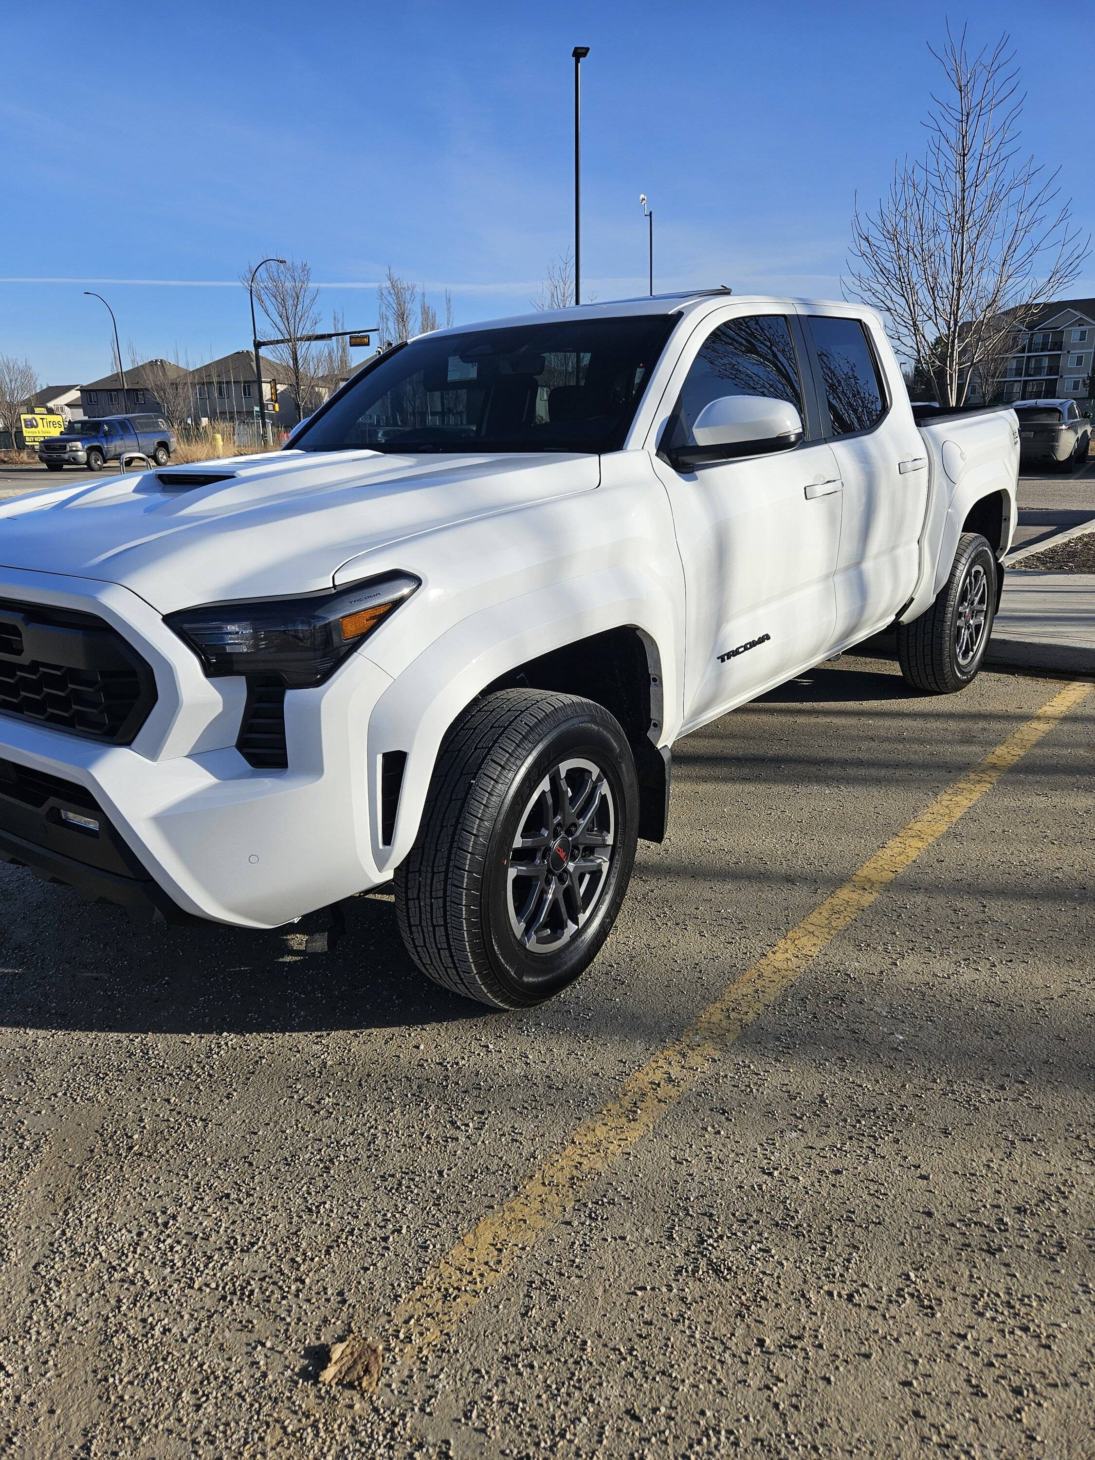
[[(291, 929), (145, 927), (0, 869), (0, 1025), (112, 1034), (261, 1034), (491, 1018), (407, 956), (390, 898), (345, 904), (346, 933), (305, 953)], [(12, 914), (18, 910), (18, 917)]]

